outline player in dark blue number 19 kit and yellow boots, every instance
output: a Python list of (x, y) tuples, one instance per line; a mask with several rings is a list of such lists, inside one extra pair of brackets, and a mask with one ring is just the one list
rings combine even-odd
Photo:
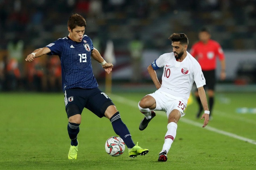
[(62, 88), (65, 95), (65, 106), (68, 117), (68, 135), (71, 146), (68, 159), (75, 160), (78, 154), (78, 133), (81, 124), (83, 108), (92, 111), (96, 116), (106, 117), (112, 123), (113, 129), (129, 149), (129, 156), (145, 155), (148, 149), (134, 144), (132, 136), (123, 123), (119, 111), (112, 100), (98, 88), (93, 75), (91, 57), (98, 61), (107, 73), (113, 68), (107, 63), (99, 51), (93, 47), (92, 40), (84, 35), (85, 19), (79, 14), (73, 14), (68, 20), (69, 35), (59, 38), (46, 47), (36, 49), (27, 56), (26, 61), (33, 61), (44, 54), (58, 55), (62, 69)]

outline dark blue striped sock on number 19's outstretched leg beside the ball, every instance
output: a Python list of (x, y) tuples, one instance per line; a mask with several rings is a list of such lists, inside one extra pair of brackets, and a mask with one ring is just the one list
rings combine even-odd
[(122, 138), (126, 146), (128, 148), (133, 148), (135, 144), (133, 143), (132, 135), (130, 134), (127, 126), (121, 120), (120, 113), (116, 112), (109, 120), (112, 123), (115, 133)]

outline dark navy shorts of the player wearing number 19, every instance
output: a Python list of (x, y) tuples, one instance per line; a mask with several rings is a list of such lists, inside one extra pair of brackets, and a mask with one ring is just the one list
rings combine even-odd
[(72, 88), (64, 92), (65, 106), (68, 118), (81, 114), (83, 108), (93, 112), (99, 118), (105, 116), (108, 106), (114, 105), (112, 100), (99, 88), (83, 89)]

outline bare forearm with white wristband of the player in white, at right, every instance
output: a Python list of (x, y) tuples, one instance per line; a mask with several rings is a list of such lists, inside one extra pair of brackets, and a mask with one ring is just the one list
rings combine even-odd
[(204, 91), (203, 86), (197, 88), (198, 89), (198, 95), (200, 97), (201, 103), (203, 105), (203, 109), (204, 109), (204, 114), (202, 115), (201, 119), (204, 118), (204, 122), (203, 122), (203, 127), (206, 127), (206, 125), (209, 122), (209, 114), (207, 114), (206, 112), (209, 112), (208, 109), (208, 104), (207, 104), (207, 98), (206, 98), (206, 92)]

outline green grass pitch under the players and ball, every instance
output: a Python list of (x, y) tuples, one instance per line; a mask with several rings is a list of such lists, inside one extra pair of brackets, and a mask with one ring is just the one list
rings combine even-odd
[(131, 159), (126, 148), (119, 157), (105, 152), (105, 142), (115, 135), (107, 118), (88, 110), (82, 113), (77, 160), (68, 160), (70, 140), (64, 95), (1, 93), (0, 169), (255, 169), (256, 114), (237, 113), (255, 108), (255, 93), (217, 93), (214, 119), (206, 128), (195, 119), (195, 101), (178, 123), (177, 135), (167, 162), (157, 162), (167, 131), (167, 117), (156, 117), (139, 131), (143, 115), (137, 108), (147, 93), (109, 95), (129, 128), (133, 140), (148, 148), (146, 156)]

